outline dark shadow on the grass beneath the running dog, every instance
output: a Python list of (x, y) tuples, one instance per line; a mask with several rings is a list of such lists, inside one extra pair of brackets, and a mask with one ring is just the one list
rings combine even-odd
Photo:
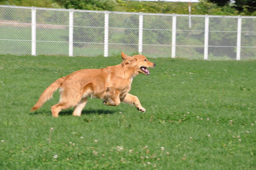
[[(82, 115), (90, 115), (90, 114), (96, 114), (96, 115), (108, 115), (108, 114), (114, 114), (115, 110), (103, 110), (103, 109), (93, 109), (93, 110), (83, 110), (82, 111)], [(44, 114), (45, 112), (42, 111), (34, 111), (31, 112), (29, 115), (40, 115), (40, 114)], [(69, 109), (69, 110), (63, 110), (61, 112), (59, 112), (59, 116), (70, 116), (73, 113), (73, 109)], [(49, 115), (51, 115), (51, 112), (49, 112)]]

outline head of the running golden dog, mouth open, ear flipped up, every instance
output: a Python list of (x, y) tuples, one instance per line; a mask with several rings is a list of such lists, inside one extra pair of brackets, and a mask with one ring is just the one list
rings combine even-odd
[(149, 70), (147, 68), (154, 68), (155, 63), (152, 63), (146, 59), (143, 55), (134, 55), (128, 56), (121, 52), (121, 56), (123, 59), (122, 66), (133, 67), (135, 72), (143, 73), (145, 75), (149, 75)]

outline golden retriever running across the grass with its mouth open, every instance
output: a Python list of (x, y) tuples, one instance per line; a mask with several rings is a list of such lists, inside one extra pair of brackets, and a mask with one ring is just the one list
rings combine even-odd
[(140, 112), (145, 112), (137, 96), (131, 90), (133, 78), (139, 73), (149, 75), (147, 68), (155, 67), (143, 55), (133, 57), (121, 52), (123, 62), (103, 69), (83, 69), (57, 79), (39, 97), (30, 111), (39, 109), (59, 88), (59, 102), (51, 107), (51, 115), (57, 117), (61, 110), (75, 107), (74, 116), (80, 116), (90, 98), (103, 99), (104, 105), (117, 106), (121, 102), (135, 105)]

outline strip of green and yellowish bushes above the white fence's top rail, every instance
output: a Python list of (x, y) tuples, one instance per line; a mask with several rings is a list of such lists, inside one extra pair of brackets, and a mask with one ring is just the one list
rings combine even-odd
[[(125, 0), (0, 0), (0, 4), (102, 11), (188, 14), (188, 3), (182, 2), (139, 2)], [(236, 3), (230, 3), (230, 0), (201, 0), (199, 3), (191, 3), (191, 13), (255, 16), (255, 4), (256, 2), (254, 0), (237, 0)]]

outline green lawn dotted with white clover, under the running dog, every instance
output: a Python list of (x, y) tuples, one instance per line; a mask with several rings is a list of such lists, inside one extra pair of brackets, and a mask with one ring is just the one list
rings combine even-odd
[(58, 92), (29, 111), (49, 84), (121, 57), (0, 55), (0, 169), (255, 169), (256, 61), (149, 60), (145, 113), (92, 99), (54, 118)]

